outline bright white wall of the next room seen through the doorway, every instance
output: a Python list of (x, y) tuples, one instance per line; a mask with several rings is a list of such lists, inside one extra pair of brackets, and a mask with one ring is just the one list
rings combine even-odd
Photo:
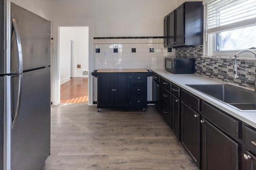
[(74, 41), (72, 77), (83, 77), (82, 71), (88, 71), (88, 27), (60, 27), (60, 84), (70, 80), (70, 41)]

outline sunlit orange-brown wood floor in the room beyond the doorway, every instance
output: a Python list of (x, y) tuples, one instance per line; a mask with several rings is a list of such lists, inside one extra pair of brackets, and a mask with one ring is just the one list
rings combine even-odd
[(70, 78), (60, 85), (60, 103), (88, 103), (88, 77)]

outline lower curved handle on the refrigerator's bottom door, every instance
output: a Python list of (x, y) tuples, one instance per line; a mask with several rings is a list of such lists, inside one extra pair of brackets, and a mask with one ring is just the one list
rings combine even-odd
[(21, 100), (21, 92), (22, 92), (22, 83), (23, 83), (23, 74), (19, 75), (19, 83), (18, 83), (18, 95), (17, 95), (17, 104), (14, 112), (14, 116), (12, 117), (12, 129), (16, 125), (17, 117), (20, 112), (20, 100)]

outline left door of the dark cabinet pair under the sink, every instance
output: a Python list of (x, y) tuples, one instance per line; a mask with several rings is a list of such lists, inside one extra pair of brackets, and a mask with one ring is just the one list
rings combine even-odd
[(200, 115), (181, 102), (181, 142), (200, 168)]

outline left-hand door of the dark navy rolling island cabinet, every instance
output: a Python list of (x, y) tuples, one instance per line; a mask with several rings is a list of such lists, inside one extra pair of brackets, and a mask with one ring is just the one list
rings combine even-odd
[(114, 74), (98, 74), (98, 107), (114, 106)]

